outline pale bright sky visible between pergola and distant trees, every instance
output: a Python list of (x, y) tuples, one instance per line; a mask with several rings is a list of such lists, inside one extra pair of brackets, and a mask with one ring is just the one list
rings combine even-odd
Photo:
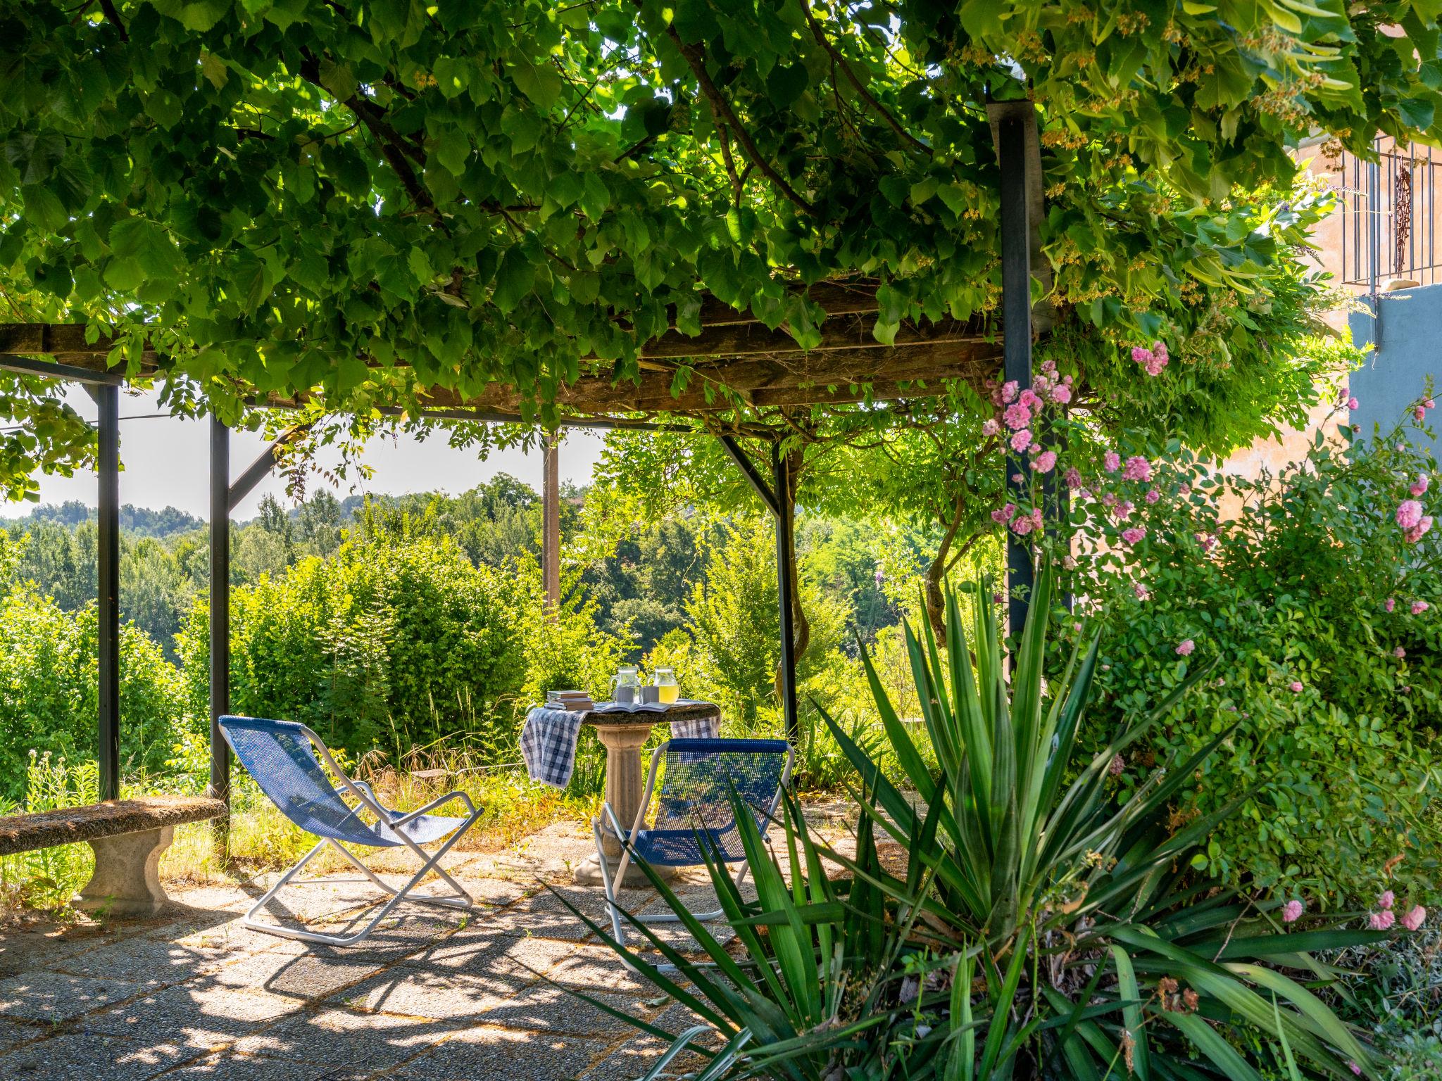
[[(71, 388), (66, 401), (87, 419), (95, 421), (95, 404), (78, 386)], [(128, 395), (120, 399), (120, 502), (138, 507), (177, 507), (196, 517), (205, 517), (211, 506), (211, 434), (209, 421), (186, 421), (174, 417), (156, 417), (160, 406), (154, 393)], [(133, 419), (127, 419), (133, 418)], [(585, 430), (571, 430), (561, 442), (561, 480), (584, 484), (600, 457), (603, 434)], [(231, 476), (244, 470), (255, 455), (265, 448), (265, 440), (254, 432), (231, 434)], [(329, 461), (322, 457), (322, 464)], [(352, 491), (399, 494), (404, 491), (447, 491), (459, 493), (476, 487), (497, 473), (509, 473), (541, 490), (541, 454), (523, 454), (518, 450), (496, 451), (480, 461), (473, 451), (451, 450), (446, 440), (433, 435), (425, 442), (412, 438), (378, 440), (366, 447), (365, 460), (375, 468), (375, 476), (363, 481), (355, 479), (340, 481), (333, 489), (337, 497)], [(324, 481), (311, 476), (311, 490)], [(284, 480), (271, 474), (262, 480), (245, 500), (235, 507), (236, 520), (254, 517), (261, 499), (274, 494), (287, 503)], [(40, 502), (63, 503), (78, 499), (95, 506), (97, 481), (89, 471), (76, 471), (74, 477), (40, 476)], [(6, 513), (26, 513), (25, 504), (12, 504)]]

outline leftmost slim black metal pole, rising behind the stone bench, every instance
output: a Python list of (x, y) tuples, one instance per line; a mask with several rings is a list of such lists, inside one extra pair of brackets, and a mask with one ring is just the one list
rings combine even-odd
[(95, 388), (99, 405), (97, 617), (99, 647), (99, 797), (120, 798), (120, 388)]

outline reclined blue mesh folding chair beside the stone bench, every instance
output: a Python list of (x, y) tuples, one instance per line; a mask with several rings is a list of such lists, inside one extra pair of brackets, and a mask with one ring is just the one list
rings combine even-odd
[[(399, 814), (381, 804), (375, 798), (375, 793), (371, 786), (365, 781), (356, 781), (348, 777), (336, 760), (332, 757), (330, 751), (320, 741), (314, 732), (311, 732), (306, 725), (296, 724), (293, 721), (262, 721), (260, 718), (251, 716), (222, 716), (221, 731), (225, 734), (226, 742), (231, 749), (235, 751), (235, 757), (241, 760), (245, 768), (249, 771), (251, 777), (261, 787), (271, 801), (280, 809), (280, 811), (300, 826), (307, 833), (320, 837), (320, 842), (296, 863), (290, 871), (280, 876), (280, 881), (271, 886), (270, 892), (265, 894), (255, 907), (245, 914), (244, 924), (257, 931), (265, 931), (267, 934), (278, 934), (287, 938), (300, 938), (307, 943), (323, 943), (326, 946), (355, 946), (362, 938), (371, 934), (375, 927), (386, 917), (386, 914), (395, 908), (401, 901), (420, 901), (428, 905), (444, 905), (447, 908), (470, 908), (472, 898), (461, 885), (447, 875), (440, 868), (440, 859), (444, 856), (451, 846), (461, 839), (461, 836), (473, 824), (476, 819), (480, 817), (480, 811), (476, 810), (474, 804), (463, 791), (453, 791), (441, 796), (438, 800), (433, 800), (420, 810), (411, 811), (408, 814)], [(319, 755), (319, 758), (317, 758)], [(332, 784), (330, 777), (322, 770), (322, 762), (330, 770), (330, 774), (340, 780), (342, 787), (355, 798), (355, 806), (349, 806), (342, 794)], [(441, 804), (450, 803), (451, 800), (460, 800), (466, 807), (464, 819), (444, 817), (438, 814), (430, 814)], [(363, 813), (369, 813), (375, 817), (375, 822), (366, 823), (362, 819)], [(421, 845), (430, 845), (431, 842), (441, 840), (447, 837), (444, 845), (435, 852), (434, 856), (427, 855)], [(371, 871), (360, 859), (350, 852), (350, 849), (342, 845), (358, 845), (362, 848), (401, 848), (405, 846), (415, 853), (417, 859), (421, 860), (421, 869), (411, 876), (411, 879), (397, 889), (381, 881), (381, 878)], [(314, 931), (304, 931), (300, 928), (281, 927), (278, 924), (262, 924), (255, 915), (260, 912), (270, 899), (275, 897), (297, 873), (306, 866), (326, 845), (330, 845), (345, 856), (356, 869), (360, 871), (368, 879), (371, 879), (376, 886), (391, 895), (379, 912), (359, 931), (348, 935), (332, 935), (332, 934), (317, 934)], [(433, 894), (411, 894), (411, 891), (425, 878), (427, 873), (434, 871), (440, 878), (443, 878), (454, 894), (447, 895), (433, 895)], [(316, 881), (316, 879), (310, 879)], [(332, 879), (335, 881), (335, 879)], [(304, 881), (297, 882), (297, 885), (304, 885)]]

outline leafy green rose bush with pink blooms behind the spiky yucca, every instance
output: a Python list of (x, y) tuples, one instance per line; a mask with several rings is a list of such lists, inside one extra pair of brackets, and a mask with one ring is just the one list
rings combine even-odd
[(1345, 907), (1406, 853), (1396, 873), (1435, 899), (1442, 543), (1438, 532), (1409, 542), (1396, 523), (1433, 461), (1399, 432), (1358, 447), (1318, 435), (1304, 461), (1256, 480), (1175, 444), (1142, 457), (1149, 480), (1105, 466), (1082, 479), (1097, 500), (1077, 512), (1077, 592), (1096, 615), (1077, 626), (1105, 631), (1102, 731), (1198, 663), (1220, 664), (1133, 751), (1123, 781), (1236, 725), (1178, 794), (1182, 816), (1246, 797), (1197, 866)]

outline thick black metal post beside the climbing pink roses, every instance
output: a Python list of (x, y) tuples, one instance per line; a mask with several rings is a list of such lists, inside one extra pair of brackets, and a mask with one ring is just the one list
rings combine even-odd
[[(1030, 105), (1027, 107), (1030, 110)], [(1031, 386), (1031, 229), (1027, 213), (1027, 124), (1035, 123), (1021, 111), (1001, 118), (998, 157), (1001, 161), (1001, 326), (1005, 378), (1018, 391)], [(1024, 453), (1007, 454), (1007, 493), (1019, 502), (1025, 487)], [(1015, 477), (1022, 477), (1017, 481)], [(1034, 569), (1031, 548), (1019, 536), (1007, 533), (1007, 595), (1012, 634), (1027, 623)]]

